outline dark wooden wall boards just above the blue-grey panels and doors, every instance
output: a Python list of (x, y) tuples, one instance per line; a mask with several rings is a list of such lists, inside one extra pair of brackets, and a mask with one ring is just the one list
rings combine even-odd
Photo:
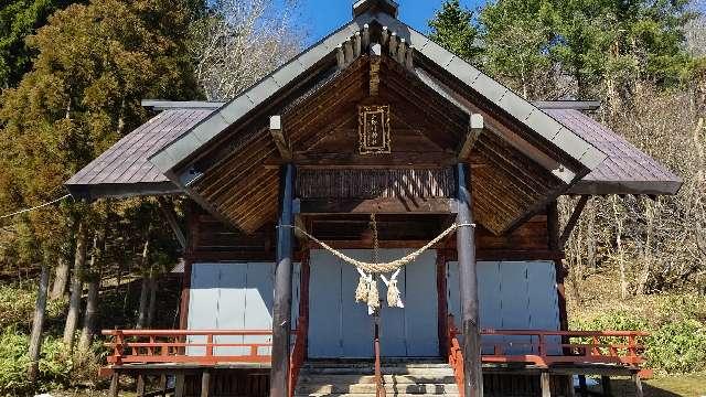
[[(377, 215), (381, 247), (420, 247), (452, 222), (452, 215)], [(275, 260), (274, 224), (268, 224), (253, 234), (246, 234), (203, 211), (194, 214), (190, 224), (192, 261)], [(302, 219), (302, 224), (318, 238), (340, 248), (373, 246), (367, 215), (312, 216)], [(546, 214), (536, 215), (513, 232), (501, 236), (479, 225), (475, 240), (479, 259), (484, 260), (557, 259), (561, 255), (549, 247)], [(448, 237), (436, 248), (443, 249), (449, 260), (452, 260), (456, 257), (454, 236)]]

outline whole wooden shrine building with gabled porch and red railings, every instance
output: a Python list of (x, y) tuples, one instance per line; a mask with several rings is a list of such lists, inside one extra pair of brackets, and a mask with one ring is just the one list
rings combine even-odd
[[(180, 397), (569, 396), (587, 374), (640, 388), (639, 330), (568, 331), (564, 244), (591, 195), (681, 181), (597, 104), (528, 103), (394, 1), (361, 0), (228, 103), (145, 105), (157, 116), (66, 183), (188, 203), (181, 326), (104, 332), (113, 395), (118, 374)], [(580, 196), (565, 227), (561, 195)]]

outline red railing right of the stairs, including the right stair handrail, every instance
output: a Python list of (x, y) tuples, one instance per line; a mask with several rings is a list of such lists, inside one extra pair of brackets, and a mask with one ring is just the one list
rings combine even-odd
[[(463, 354), (453, 315), (449, 315), (447, 326), (449, 364), (453, 368), (459, 395), (463, 396)], [(622, 364), (640, 366), (644, 364), (644, 346), (640, 337), (648, 336), (638, 331), (536, 331), (536, 330), (483, 330), (482, 335), (517, 336), (527, 341), (503, 343), (482, 343), (483, 351), (492, 348), (492, 354), (483, 354), (483, 363), (527, 363), (538, 366), (553, 364)], [(524, 336), (524, 337), (523, 337)], [(561, 340), (580, 340), (577, 343), (563, 343)], [(590, 342), (586, 342), (590, 341)], [(616, 341), (622, 341), (616, 343)], [(526, 351), (528, 354), (507, 353)], [(649, 372), (643, 372), (649, 374)]]

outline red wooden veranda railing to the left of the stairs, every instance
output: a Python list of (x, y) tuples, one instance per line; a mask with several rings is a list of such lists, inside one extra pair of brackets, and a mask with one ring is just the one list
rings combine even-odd
[[(113, 340), (105, 343), (113, 351), (108, 364), (130, 363), (270, 363), (271, 330), (186, 331), (186, 330), (107, 330)], [(223, 343), (217, 336), (269, 336), (269, 343)], [(193, 342), (190, 339), (205, 339)], [(242, 354), (220, 354), (217, 350), (243, 350)]]

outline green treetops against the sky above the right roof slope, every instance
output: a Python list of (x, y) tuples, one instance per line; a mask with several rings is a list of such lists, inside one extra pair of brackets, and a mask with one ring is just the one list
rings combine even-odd
[[(641, 83), (672, 87), (691, 77), (688, 0), (499, 0), (473, 23), (447, 1), (431, 36), (525, 97), (627, 98)], [(472, 46), (475, 37), (482, 53)], [(567, 78), (568, 77), (568, 78)], [(567, 82), (568, 81), (568, 82)]]

